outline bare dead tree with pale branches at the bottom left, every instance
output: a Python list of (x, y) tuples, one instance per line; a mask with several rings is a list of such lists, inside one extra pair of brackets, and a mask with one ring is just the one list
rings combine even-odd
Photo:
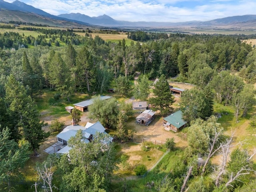
[[(54, 161), (52, 159), (48, 160), (47, 162), (44, 162), (41, 166), (38, 165), (36, 167), (39, 180), (43, 180), (44, 183), (46, 182), (49, 186), (50, 192), (53, 192), (53, 188), (58, 189), (55, 185), (52, 185), (52, 179), (54, 172), (52, 171), (54, 166)], [(49, 191), (47, 188), (45, 189), (46, 191)]]

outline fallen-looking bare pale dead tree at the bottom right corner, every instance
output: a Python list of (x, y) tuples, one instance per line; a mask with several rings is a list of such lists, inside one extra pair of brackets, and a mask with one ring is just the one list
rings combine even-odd
[[(248, 156), (248, 158), (246, 159), (247, 162), (250, 162), (250, 160), (252, 159), (252, 157), (256, 154), (256, 150), (254, 150), (253, 154), (251, 156)], [(251, 172), (256, 173), (255, 170), (253, 170), (252, 168), (250, 168), (248, 165), (243, 166), (240, 168), (240, 170), (236, 173), (236, 175), (234, 175), (233, 172), (231, 172), (230, 178), (228, 180), (228, 182), (226, 182), (225, 186), (232, 186), (231, 183), (234, 180), (238, 180), (238, 177), (241, 175), (247, 175), (250, 174)], [(233, 187), (233, 186), (232, 186)]]

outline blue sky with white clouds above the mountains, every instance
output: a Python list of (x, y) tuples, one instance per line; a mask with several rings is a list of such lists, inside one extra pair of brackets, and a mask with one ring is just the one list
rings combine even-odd
[[(13, 2), (14, 0), (4, 0)], [(256, 14), (256, 0), (20, 0), (53, 15), (106, 14), (115, 20), (186, 22)]]

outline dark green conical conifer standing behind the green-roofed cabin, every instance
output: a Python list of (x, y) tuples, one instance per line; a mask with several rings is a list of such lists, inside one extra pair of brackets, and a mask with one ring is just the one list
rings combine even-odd
[(156, 110), (160, 110), (160, 114), (163, 116), (173, 109), (172, 104), (174, 103), (174, 98), (170, 92), (169, 84), (163, 74), (154, 86), (154, 96), (149, 99), (149, 102)]

